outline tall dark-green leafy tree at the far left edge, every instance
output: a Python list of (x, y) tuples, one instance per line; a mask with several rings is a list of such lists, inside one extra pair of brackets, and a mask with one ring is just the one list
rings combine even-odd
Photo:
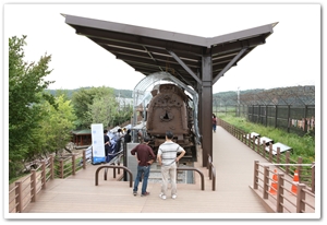
[(26, 36), (9, 38), (9, 173), (15, 177), (22, 162), (34, 147), (35, 135), (41, 119), (39, 103), (44, 99), (55, 104), (53, 96), (44, 92), (50, 81), (45, 81), (51, 70), (51, 56), (43, 56), (38, 62), (24, 61)]

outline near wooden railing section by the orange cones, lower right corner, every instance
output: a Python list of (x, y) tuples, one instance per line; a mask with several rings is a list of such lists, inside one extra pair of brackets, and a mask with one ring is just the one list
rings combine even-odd
[[(272, 211), (277, 213), (314, 213), (315, 194), (307, 189), (307, 186), (290, 181), (286, 177), (288, 175), (275, 173), (269, 166), (278, 165), (254, 162), (253, 189), (262, 191), (262, 199), (267, 204), (275, 202)], [(301, 166), (311, 167), (312, 165), (302, 164)], [(271, 179), (271, 174), (277, 176), (277, 180)]]

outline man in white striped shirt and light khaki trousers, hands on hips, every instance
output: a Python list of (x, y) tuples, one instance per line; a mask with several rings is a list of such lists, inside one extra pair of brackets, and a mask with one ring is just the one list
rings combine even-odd
[[(160, 144), (157, 159), (159, 165), (161, 166), (161, 176), (162, 176), (162, 185), (161, 185), (161, 193), (160, 198), (166, 199), (168, 178), (170, 177), (171, 181), (171, 198), (177, 198), (177, 162), (179, 162), (185, 154), (185, 150), (181, 147), (179, 144), (172, 141), (173, 133), (171, 131), (166, 132), (166, 142)], [(181, 153), (177, 156), (178, 153)]]

